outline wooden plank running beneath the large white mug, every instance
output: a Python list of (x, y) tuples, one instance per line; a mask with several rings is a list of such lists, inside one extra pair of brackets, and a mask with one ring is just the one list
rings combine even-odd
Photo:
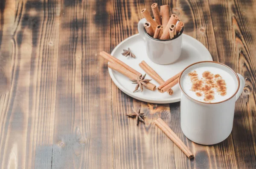
[[(213, 27), (211, 13), (207, 1), (174, 1), (172, 11), (180, 16), (180, 20), (185, 23), (185, 33), (195, 37), (212, 54), (213, 60), (221, 61), (216, 46), (215, 32)], [(175, 108), (173, 108), (175, 109)], [(180, 109), (177, 110), (180, 112)], [(175, 159), (177, 168), (237, 168), (235, 151), (233, 148), (232, 136), (228, 137), (222, 143), (214, 146), (201, 146), (189, 141), (182, 133), (180, 128), (180, 116), (175, 116), (171, 109), (171, 126), (177, 135), (183, 138), (185, 143), (194, 151), (195, 159), (192, 161), (182, 159), (182, 152), (175, 149)], [(228, 154), (228, 155), (227, 155)]]

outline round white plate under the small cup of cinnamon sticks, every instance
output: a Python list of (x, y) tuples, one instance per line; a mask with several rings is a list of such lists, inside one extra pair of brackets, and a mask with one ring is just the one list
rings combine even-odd
[[(138, 72), (145, 74), (144, 70), (140, 68), (139, 63), (142, 60), (145, 60), (149, 66), (151, 66), (163, 80), (167, 80), (170, 77), (174, 76), (178, 72), (181, 72), (186, 66), (189, 66), (192, 63), (211, 60), (212, 56), (206, 47), (189, 35), (183, 34), (182, 40), (182, 51), (180, 58), (172, 64), (169, 65), (159, 65), (153, 63), (146, 54), (145, 43), (139, 34), (134, 34), (131, 37), (123, 40), (119, 43), (116, 48), (112, 51), (111, 55), (122, 60), (127, 65), (131, 66)], [(136, 58), (125, 57), (122, 55), (122, 49), (131, 49), (136, 56)], [(111, 76), (111, 79), (116, 84), (116, 86), (122, 90), (125, 94), (149, 103), (175, 103), (180, 101), (180, 89), (178, 85), (175, 85), (173, 89), (173, 95), (169, 95), (167, 92), (160, 93), (157, 90), (151, 91), (148, 89), (144, 89), (143, 92), (137, 91), (134, 92), (136, 84), (132, 84), (131, 81), (125, 77), (124, 75), (116, 72), (112, 69), (108, 69), (108, 72)], [(145, 79), (152, 79), (149, 75), (146, 75)], [(151, 83), (159, 86), (159, 84), (155, 80), (151, 80)]]

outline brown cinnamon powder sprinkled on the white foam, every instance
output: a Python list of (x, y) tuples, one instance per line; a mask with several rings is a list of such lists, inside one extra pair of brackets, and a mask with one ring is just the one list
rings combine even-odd
[(189, 77), (192, 82), (191, 90), (195, 92), (198, 97), (204, 96), (205, 102), (214, 100), (215, 91), (224, 96), (227, 94), (226, 82), (219, 74), (212, 74), (209, 71), (205, 71), (202, 74), (202, 78), (198, 78), (196, 71), (189, 72)]

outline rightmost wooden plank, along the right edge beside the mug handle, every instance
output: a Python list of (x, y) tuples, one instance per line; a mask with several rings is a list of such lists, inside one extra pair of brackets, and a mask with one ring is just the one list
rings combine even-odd
[[(239, 146), (236, 149), (237, 156), (239, 161), (245, 160), (244, 162), (246, 162), (246, 165), (241, 163), (241, 167), (251, 167), (249, 164), (252, 164), (252, 166), (256, 168), (256, 158), (252, 158), (252, 163), (250, 160), (248, 160), (249, 156), (256, 155), (256, 92), (254, 89), (254, 86), (256, 85), (256, 49), (254, 42), (254, 38), (256, 37), (256, 32), (254, 29), (254, 26), (256, 26), (254, 12), (256, 3), (253, 1), (242, 3), (240, 0), (234, 0), (229, 1), (229, 6), (232, 11), (233, 43), (236, 50), (236, 59), (239, 62), (237, 72), (242, 74), (246, 79), (244, 92), (242, 93), (241, 99), (239, 99), (237, 103), (238, 112), (243, 112), (243, 114), (245, 113), (246, 119), (239, 119), (239, 121), (235, 121), (234, 126), (243, 124), (243, 129), (239, 127), (239, 129), (237, 128), (237, 130), (233, 130), (236, 132), (234, 143), (235, 145), (240, 144), (241, 140), (248, 139), (247, 141), (250, 142), (250, 146), (248, 147), (248, 144), (243, 146), (247, 146), (250, 151), (248, 153), (244, 153), (244, 151), (240, 153), (242, 147)], [(239, 132), (242, 132), (241, 130), (243, 130), (243, 133), (245, 130), (246, 134), (250, 137), (241, 137), (239, 134)]]

